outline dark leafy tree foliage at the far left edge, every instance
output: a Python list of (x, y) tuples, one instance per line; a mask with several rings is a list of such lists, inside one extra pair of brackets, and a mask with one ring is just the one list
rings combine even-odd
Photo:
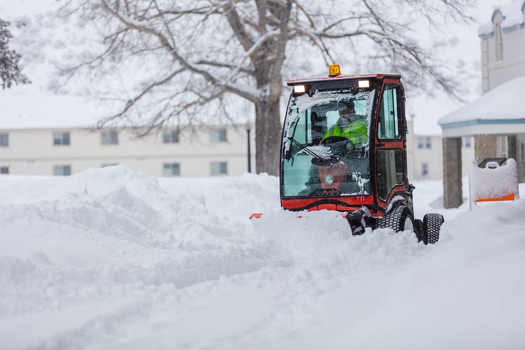
[[(9, 31), (10, 23), (0, 19), (0, 80), (2, 89), (10, 88), (13, 83), (27, 84), (29, 79), (22, 73), (22, 67), (19, 64), (20, 54), (15, 50), (9, 49), (9, 40), (13, 34)], [(23, 23), (17, 24), (18, 27)]]

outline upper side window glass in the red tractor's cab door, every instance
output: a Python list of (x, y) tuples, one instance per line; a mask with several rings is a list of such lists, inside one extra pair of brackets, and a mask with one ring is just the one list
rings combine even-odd
[(399, 139), (401, 137), (397, 112), (398, 87), (386, 86), (383, 91), (377, 125), (378, 139)]

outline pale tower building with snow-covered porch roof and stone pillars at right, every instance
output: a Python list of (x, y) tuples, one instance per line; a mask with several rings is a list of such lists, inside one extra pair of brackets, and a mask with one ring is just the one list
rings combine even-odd
[(497, 6), (479, 27), (484, 94), (443, 116), (443, 204), (463, 203), (461, 137), (474, 136), (476, 161), (514, 158), (525, 181), (525, 1)]

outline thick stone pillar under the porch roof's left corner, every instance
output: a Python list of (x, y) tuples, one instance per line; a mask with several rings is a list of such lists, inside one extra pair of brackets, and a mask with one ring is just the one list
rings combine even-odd
[(457, 208), (463, 203), (461, 184), (461, 137), (443, 138), (443, 207)]

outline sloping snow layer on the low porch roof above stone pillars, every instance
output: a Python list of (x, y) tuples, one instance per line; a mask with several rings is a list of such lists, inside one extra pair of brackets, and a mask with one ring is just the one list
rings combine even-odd
[(444, 125), (475, 121), (501, 123), (507, 120), (514, 122), (523, 120), (525, 122), (524, 90), (525, 76), (512, 79), (486, 92), (474, 102), (443, 116), (438, 120), (438, 124), (443, 128)]

